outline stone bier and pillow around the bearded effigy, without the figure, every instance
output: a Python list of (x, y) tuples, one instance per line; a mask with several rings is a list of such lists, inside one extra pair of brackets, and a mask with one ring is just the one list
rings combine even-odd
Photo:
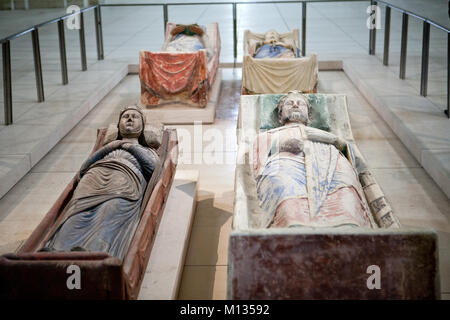
[[(241, 96), (228, 298), (439, 297), (436, 233), (402, 228), (364, 163), (356, 164), (356, 168), (376, 228), (267, 228), (272, 217), (259, 205), (251, 154), (258, 133), (279, 126), (274, 110), (280, 97)], [(328, 128), (358, 152), (353, 145), (346, 97), (311, 94), (308, 99), (313, 106), (311, 125)], [(371, 265), (385, 270), (382, 290), (368, 290), (366, 286), (367, 268)]]

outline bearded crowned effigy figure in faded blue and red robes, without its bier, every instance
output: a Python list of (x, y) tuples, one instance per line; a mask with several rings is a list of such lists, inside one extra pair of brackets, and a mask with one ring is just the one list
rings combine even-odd
[(377, 228), (351, 145), (308, 127), (311, 108), (298, 91), (280, 99), (278, 115), (282, 126), (260, 133), (253, 147), (258, 199), (270, 227)]

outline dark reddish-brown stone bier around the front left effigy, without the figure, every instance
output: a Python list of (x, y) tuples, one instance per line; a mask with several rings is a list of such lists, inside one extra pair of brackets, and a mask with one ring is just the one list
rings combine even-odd
[[(91, 155), (104, 146), (105, 136), (107, 129), (99, 129)], [(124, 257), (92, 251), (41, 251), (74, 195), (78, 183), (74, 177), (19, 251), (0, 257), (1, 299), (137, 298), (176, 170), (176, 131), (166, 129), (160, 138), (156, 149), (160, 162), (145, 189), (137, 227)], [(79, 289), (67, 284), (73, 265), (79, 268)]]

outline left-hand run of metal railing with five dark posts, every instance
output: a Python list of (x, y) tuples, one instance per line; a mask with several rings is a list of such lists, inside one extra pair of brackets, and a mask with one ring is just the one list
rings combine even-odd
[(66, 56), (66, 38), (64, 33), (64, 20), (80, 15), (80, 51), (81, 51), (81, 70), (87, 70), (86, 60), (86, 41), (84, 34), (84, 12), (94, 10), (95, 15), (95, 31), (97, 41), (97, 58), (98, 60), (104, 59), (103, 54), (103, 32), (102, 32), (102, 17), (100, 11), (100, 5), (90, 6), (80, 11), (69, 13), (59, 18), (55, 18), (33, 27), (25, 29), (21, 32), (15, 33), (9, 37), (0, 40), (2, 44), (2, 58), (3, 58), (3, 96), (4, 96), (4, 117), (5, 124), (10, 125), (13, 123), (13, 109), (12, 109), (12, 83), (11, 83), (11, 41), (31, 33), (31, 40), (33, 44), (33, 59), (34, 59), (34, 71), (36, 75), (36, 90), (37, 98), (39, 102), (45, 100), (44, 95), (44, 82), (42, 80), (42, 64), (41, 64), (41, 51), (39, 44), (39, 29), (56, 23), (58, 25), (58, 39), (59, 39), (59, 54), (61, 60), (61, 78), (62, 84), (69, 83), (67, 72), (67, 56)]

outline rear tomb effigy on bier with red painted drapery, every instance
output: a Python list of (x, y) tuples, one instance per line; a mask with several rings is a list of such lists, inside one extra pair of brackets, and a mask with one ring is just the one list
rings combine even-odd
[(202, 27), (168, 23), (161, 52), (141, 51), (141, 103), (178, 103), (204, 108), (216, 78), (220, 55), (217, 23)]

